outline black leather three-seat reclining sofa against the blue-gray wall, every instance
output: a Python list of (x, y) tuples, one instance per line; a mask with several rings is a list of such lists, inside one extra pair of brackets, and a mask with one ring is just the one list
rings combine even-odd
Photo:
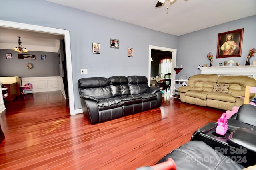
[(159, 89), (149, 87), (145, 76), (78, 80), (83, 113), (92, 124), (160, 107), (162, 93)]

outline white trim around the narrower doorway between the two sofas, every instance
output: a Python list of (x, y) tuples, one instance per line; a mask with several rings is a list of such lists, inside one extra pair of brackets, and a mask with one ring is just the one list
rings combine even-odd
[[(149, 45), (149, 48), (148, 48), (148, 54), (149, 54), (149, 57), (148, 57), (148, 84), (150, 84), (151, 50), (152, 49), (172, 52), (172, 72), (171, 72), (172, 77), (171, 77), (171, 79), (174, 80), (176, 78), (176, 72), (175, 72), (174, 68), (176, 67), (177, 49), (170, 49), (170, 48), (166, 48), (166, 47), (158, 47), (158, 46)], [(171, 86), (171, 92), (172, 92), (172, 90), (174, 90), (174, 86)]]

